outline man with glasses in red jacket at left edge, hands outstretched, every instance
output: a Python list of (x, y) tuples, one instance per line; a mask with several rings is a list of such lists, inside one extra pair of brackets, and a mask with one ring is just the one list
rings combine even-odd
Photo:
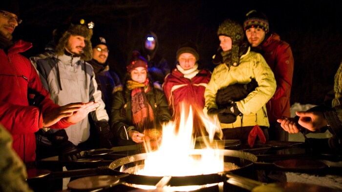
[(15, 0), (0, 3), (0, 123), (12, 134), (13, 149), (23, 162), (36, 158), (35, 132), (43, 127), (66, 128), (94, 111), (98, 103), (53, 103), (31, 62), (20, 55), (32, 44), (12, 41), (21, 23)]

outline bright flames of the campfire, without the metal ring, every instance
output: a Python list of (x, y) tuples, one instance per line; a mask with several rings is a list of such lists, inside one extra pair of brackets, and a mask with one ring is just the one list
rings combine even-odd
[[(184, 106), (184, 105), (183, 105)], [(203, 124), (209, 133), (210, 141), (214, 138), (214, 133), (220, 131), (218, 123), (201, 115)], [(188, 118), (182, 110), (178, 132), (175, 131), (175, 123), (169, 123), (163, 127), (163, 137), (159, 149), (147, 154), (145, 166), (136, 171), (135, 174), (149, 176), (187, 176), (211, 174), (224, 171), (223, 156), (218, 151), (210, 148), (193, 150), (194, 138), (192, 137), (192, 108)], [(210, 144), (209, 141), (207, 141)], [(200, 154), (193, 154), (200, 151)]]

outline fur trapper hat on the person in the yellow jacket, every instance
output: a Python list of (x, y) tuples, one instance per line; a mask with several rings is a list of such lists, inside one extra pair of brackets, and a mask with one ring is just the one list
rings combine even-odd
[(240, 47), (245, 41), (245, 32), (242, 25), (235, 20), (226, 19), (219, 25), (217, 30), (217, 36), (221, 35), (232, 38), (231, 62), (227, 64), (237, 66), (241, 56)]

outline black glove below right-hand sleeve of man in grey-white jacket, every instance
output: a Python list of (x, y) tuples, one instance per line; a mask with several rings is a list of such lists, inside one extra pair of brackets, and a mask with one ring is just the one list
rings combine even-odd
[(112, 139), (114, 139), (114, 135), (111, 132), (109, 124), (107, 122), (97, 122), (96, 129), (100, 136), (100, 147), (111, 149), (113, 147)]

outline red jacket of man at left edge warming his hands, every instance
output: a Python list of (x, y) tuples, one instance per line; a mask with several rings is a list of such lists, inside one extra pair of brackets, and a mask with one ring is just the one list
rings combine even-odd
[[(43, 127), (43, 113), (55, 105), (43, 88), (31, 62), (19, 53), (32, 44), (19, 40), (7, 52), (0, 49), (0, 123), (12, 134), (13, 149), (24, 162), (36, 158), (35, 132)], [(44, 96), (39, 108), (29, 106), (28, 91)], [(70, 125), (64, 119), (51, 126), (61, 129)]]

